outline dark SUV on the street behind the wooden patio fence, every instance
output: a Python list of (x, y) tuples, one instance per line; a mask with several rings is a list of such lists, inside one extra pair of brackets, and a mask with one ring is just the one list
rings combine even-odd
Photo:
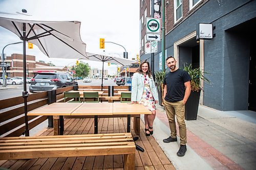
[(78, 83), (73, 81), (65, 72), (40, 72), (31, 79), (29, 91), (33, 93), (75, 85), (78, 85)]

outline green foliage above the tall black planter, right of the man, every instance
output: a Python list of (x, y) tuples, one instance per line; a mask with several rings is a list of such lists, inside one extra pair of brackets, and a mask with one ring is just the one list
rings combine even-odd
[(193, 68), (192, 64), (185, 66), (184, 64), (184, 71), (188, 73), (191, 77), (191, 91), (199, 91), (202, 90), (201, 80), (205, 81), (206, 83), (210, 84), (210, 81), (204, 76), (205, 74), (209, 74), (200, 68)]

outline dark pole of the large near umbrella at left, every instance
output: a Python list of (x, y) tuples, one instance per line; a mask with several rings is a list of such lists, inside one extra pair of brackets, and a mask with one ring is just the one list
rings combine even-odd
[(23, 89), (22, 96), (24, 98), (24, 113), (25, 113), (25, 136), (29, 136), (29, 124), (28, 124), (28, 103), (27, 98), (29, 96), (27, 91), (27, 76), (26, 76), (26, 23), (23, 23)]

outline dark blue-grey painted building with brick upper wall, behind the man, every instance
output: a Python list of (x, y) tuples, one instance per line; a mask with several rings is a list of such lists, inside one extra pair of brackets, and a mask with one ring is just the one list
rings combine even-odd
[[(151, 8), (150, 0), (140, 1), (140, 59), (150, 63), (151, 54), (145, 54), (145, 17), (153, 16)], [(212, 24), (212, 39), (197, 40), (199, 23)], [(165, 57), (175, 57), (179, 68), (192, 64), (210, 73), (211, 84), (204, 84), (201, 91), (202, 105), (256, 111), (255, 26), (256, 1), (165, 0)], [(162, 69), (161, 44), (158, 41), (154, 53), (155, 71)]]

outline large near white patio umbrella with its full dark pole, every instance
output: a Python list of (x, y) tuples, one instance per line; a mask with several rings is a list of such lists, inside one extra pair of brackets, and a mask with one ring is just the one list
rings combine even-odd
[[(26, 80), (26, 41), (37, 45), (40, 51), (54, 58), (84, 58), (86, 44), (80, 38), (79, 21), (46, 21), (23, 13), (0, 12), (0, 26), (23, 40), (23, 77)], [(27, 110), (27, 83), (24, 81), (25, 135), (29, 136)]]

